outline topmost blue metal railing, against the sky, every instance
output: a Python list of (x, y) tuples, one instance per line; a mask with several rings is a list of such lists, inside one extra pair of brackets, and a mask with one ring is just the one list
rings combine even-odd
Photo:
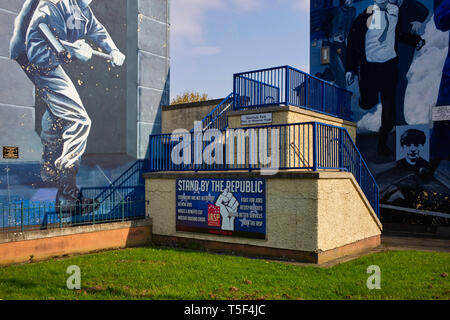
[(351, 120), (352, 93), (290, 66), (234, 75), (234, 109), (293, 105)]

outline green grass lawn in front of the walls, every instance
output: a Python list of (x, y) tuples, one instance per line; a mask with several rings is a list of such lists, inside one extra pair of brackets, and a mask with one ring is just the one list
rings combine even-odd
[[(66, 288), (71, 265), (81, 290)], [(381, 268), (368, 290), (367, 267)], [(449, 299), (450, 254), (392, 251), (332, 268), (136, 248), (0, 268), (0, 299)]]

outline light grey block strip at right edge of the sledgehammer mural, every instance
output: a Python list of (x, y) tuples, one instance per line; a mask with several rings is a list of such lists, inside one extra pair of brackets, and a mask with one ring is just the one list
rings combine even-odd
[(136, 154), (142, 159), (149, 135), (161, 133), (161, 107), (170, 100), (169, 0), (138, 0), (137, 10)]

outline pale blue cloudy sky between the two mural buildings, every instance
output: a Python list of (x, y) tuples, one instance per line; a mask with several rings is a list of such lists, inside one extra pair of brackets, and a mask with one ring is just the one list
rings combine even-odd
[(224, 98), (238, 72), (309, 72), (309, 1), (171, 0), (171, 100), (186, 91)]

